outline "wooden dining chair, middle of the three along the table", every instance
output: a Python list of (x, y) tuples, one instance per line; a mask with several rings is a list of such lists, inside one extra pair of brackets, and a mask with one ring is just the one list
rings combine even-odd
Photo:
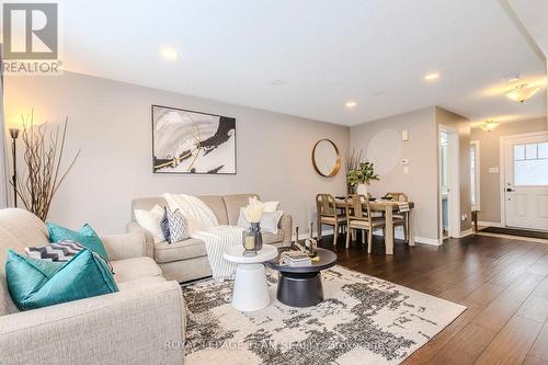
[(346, 206), (346, 248), (350, 247), (352, 229), (361, 229), (363, 230), (362, 243), (365, 243), (365, 231), (367, 231), (367, 253), (372, 253), (373, 230), (384, 228), (385, 218), (372, 215), (368, 196), (352, 194), (345, 197), (344, 204)]

